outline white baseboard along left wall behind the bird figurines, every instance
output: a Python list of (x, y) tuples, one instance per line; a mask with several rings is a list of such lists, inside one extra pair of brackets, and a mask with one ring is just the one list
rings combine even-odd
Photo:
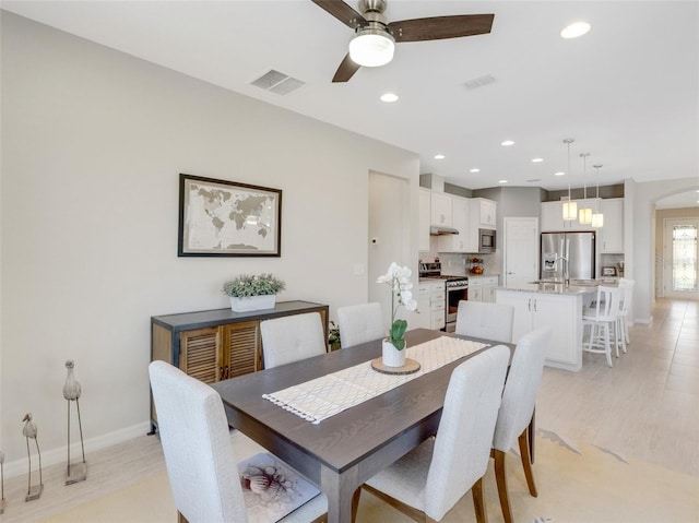
[[(122, 443), (125, 441), (137, 438), (139, 436), (144, 436), (150, 431), (151, 431), (151, 423), (146, 421), (138, 425), (132, 425), (131, 427), (126, 427), (123, 429), (115, 430), (114, 432), (108, 432), (103, 436), (97, 436), (96, 438), (86, 439), (85, 440), (85, 459), (90, 462), (90, 457), (87, 456), (90, 452), (94, 452), (100, 449), (105, 449), (107, 447)], [(39, 447), (40, 447), (40, 441), (39, 441)], [(36, 448), (34, 447), (34, 444), (32, 444), (29, 449), (32, 451), (36, 451)], [(71, 462), (73, 462), (74, 459), (76, 459), (78, 456), (82, 455), (82, 449), (80, 448), (80, 440), (78, 440), (78, 442), (72, 443), (70, 445), (70, 455), (71, 455)], [(68, 459), (68, 445), (50, 449), (47, 452), (42, 452), (42, 467), (46, 468), (47, 466), (56, 465), (58, 463), (66, 464), (67, 459)], [(36, 454), (33, 452), (32, 468), (35, 468), (37, 464), (38, 464), (38, 461), (36, 459)], [(21, 460), (15, 460), (4, 464), (5, 478), (26, 474), (27, 471), (28, 471), (28, 461), (26, 457), (23, 457)]]

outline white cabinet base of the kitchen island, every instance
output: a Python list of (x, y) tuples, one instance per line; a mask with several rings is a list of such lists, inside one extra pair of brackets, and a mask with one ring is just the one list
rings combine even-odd
[(582, 367), (582, 295), (528, 293), (498, 288), (496, 301), (514, 307), (512, 343), (543, 325), (552, 328), (545, 365), (578, 371)]

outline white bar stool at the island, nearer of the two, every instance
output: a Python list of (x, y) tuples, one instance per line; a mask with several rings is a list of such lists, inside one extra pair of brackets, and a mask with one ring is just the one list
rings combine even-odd
[(597, 287), (597, 300), (594, 308), (587, 309), (582, 314), (583, 332), (590, 325), (590, 337), (582, 342), (582, 349), (588, 353), (605, 354), (607, 365), (612, 367), (612, 343), (619, 357), (617, 344), (617, 318), (619, 316), (619, 298), (621, 289), (618, 287)]

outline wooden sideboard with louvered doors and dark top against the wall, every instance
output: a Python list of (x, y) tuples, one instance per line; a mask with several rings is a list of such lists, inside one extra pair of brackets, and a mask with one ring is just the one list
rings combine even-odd
[[(260, 322), (319, 312), (328, 340), (328, 306), (279, 301), (273, 309), (233, 312), (202, 310), (151, 317), (151, 361), (162, 359), (204, 383), (256, 372), (263, 367)], [(151, 399), (151, 424), (157, 419)]]

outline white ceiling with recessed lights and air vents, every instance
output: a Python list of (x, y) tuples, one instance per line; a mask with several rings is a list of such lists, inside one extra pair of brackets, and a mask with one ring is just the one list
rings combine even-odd
[[(582, 187), (596, 182), (594, 164), (603, 165), (601, 185), (694, 177), (699, 188), (697, 1), (388, 0), (389, 21), (491, 12), (493, 32), (398, 44), (391, 63), (363, 68), (344, 84), (331, 79), (352, 31), (310, 0), (2, 1), (2, 8), (416, 152), (422, 173), (466, 188), (501, 179)], [(578, 20), (592, 31), (560, 38)], [(250, 85), (270, 69), (305, 85), (285, 96)], [(484, 75), (495, 82), (464, 86)], [(387, 91), (400, 99), (380, 102)], [(576, 139), (571, 174), (556, 177), (568, 170), (565, 138)], [(506, 139), (514, 145), (501, 146)], [(587, 177), (581, 152), (590, 153)], [(438, 153), (446, 158), (434, 159)]]

